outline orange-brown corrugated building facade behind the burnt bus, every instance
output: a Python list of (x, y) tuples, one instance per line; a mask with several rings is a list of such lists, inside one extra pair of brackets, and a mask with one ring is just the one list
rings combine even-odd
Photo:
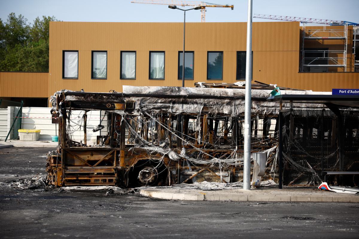
[[(195, 82), (244, 81), (243, 72), (238, 74), (241, 66), (238, 66), (237, 54), (245, 56), (246, 25), (245, 22), (186, 23), (186, 52), (191, 52), (192, 60), (188, 65), (191, 68), (191, 79), (187, 79), (185, 85), (193, 87)], [(344, 29), (343, 26), (327, 28)], [(312, 72), (318, 68), (306, 67), (308, 72), (303, 72), (303, 38), (299, 22), (253, 23), (253, 80), (313, 91), (331, 91), (333, 88), (358, 89), (359, 72), (354, 72), (355, 61), (352, 54), (353, 27), (348, 26), (346, 32), (348, 35), (345, 40), (309, 39), (304, 46), (307, 50), (341, 50), (346, 41), (346, 67), (324, 67), (325, 71), (331, 72)], [(182, 34), (182, 23), (51, 22), (49, 72), (1, 72), (0, 98), (48, 98), (61, 89), (121, 92), (122, 85), (181, 86), (182, 82), (178, 80), (178, 64), (179, 52), (183, 47)], [(96, 53), (98, 51), (99, 53)], [(132, 58), (126, 66), (132, 69), (133, 75), (124, 78), (121, 69), (125, 68), (121, 67), (125, 61), (121, 61), (121, 56), (127, 53), (131, 54)], [(102, 54), (102, 60), (98, 58), (100, 60), (94, 63), (98, 54)], [(213, 54), (220, 55), (222, 67), (217, 65), (209, 69), (212, 67), (209, 61), (213, 59)], [(69, 63), (68, 56), (77, 59)], [(160, 63), (151, 60), (151, 56), (160, 56)], [(187, 53), (185, 56), (188, 60)], [(336, 53), (336, 56), (343, 57), (341, 53)], [(70, 77), (64, 76), (68, 73), (65, 72), (67, 64), (72, 64), (73, 71), (76, 71), (74, 69), (77, 67), (77, 72), (72, 72)], [(101, 77), (94, 76), (97, 74), (93, 70), (97, 67), (96, 64), (106, 68)], [(158, 64), (163, 67), (162, 75), (153, 77), (150, 69)], [(245, 62), (241, 64), (243, 67)], [(331, 61), (326, 64), (331, 64)], [(187, 67), (186, 63), (185, 66)], [(216, 74), (214, 71), (221, 72)], [(215, 77), (212, 77), (213, 75)], [(187, 77), (186, 74), (185, 76)]]

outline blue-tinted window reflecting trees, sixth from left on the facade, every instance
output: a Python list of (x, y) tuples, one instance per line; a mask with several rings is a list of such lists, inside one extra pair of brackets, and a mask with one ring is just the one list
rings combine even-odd
[(222, 80), (223, 78), (223, 52), (208, 52), (207, 79)]

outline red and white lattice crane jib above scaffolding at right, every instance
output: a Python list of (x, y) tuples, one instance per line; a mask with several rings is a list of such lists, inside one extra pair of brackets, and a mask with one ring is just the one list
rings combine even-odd
[(325, 19), (315, 19), (315, 18), (298, 18), (296, 16), (254, 14), (253, 18), (264, 18), (264, 19), (273, 19), (273, 20), (282, 20), (282, 21), (300, 21), (301, 23), (359, 25), (358, 23), (352, 23), (350, 21), (336, 21), (336, 20), (325, 20)]

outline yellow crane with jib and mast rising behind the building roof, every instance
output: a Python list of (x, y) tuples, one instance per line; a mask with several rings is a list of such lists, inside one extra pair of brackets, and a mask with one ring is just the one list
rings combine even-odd
[(201, 22), (206, 21), (206, 8), (231, 8), (233, 10), (234, 5), (220, 5), (214, 3), (205, 3), (200, 1), (162, 1), (162, 0), (137, 0), (131, 1), (131, 3), (143, 3), (143, 4), (159, 4), (159, 5), (177, 5), (177, 6), (201, 6)]

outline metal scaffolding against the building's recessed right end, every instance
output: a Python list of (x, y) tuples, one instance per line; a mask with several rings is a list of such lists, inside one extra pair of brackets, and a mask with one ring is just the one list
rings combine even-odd
[[(311, 27), (312, 26), (312, 27)], [(346, 58), (348, 52), (348, 23), (338, 24), (343, 26), (342, 29), (328, 28), (331, 25), (314, 26), (312, 24), (303, 23), (302, 49), (301, 49), (301, 71), (304, 72), (305, 67), (342, 67), (343, 71), (347, 71)], [(307, 40), (342, 40), (344, 49), (328, 50), (328, 49), (306, 49), (305, 42)], [(324, 69), (323, 69), (324, 70)]]

